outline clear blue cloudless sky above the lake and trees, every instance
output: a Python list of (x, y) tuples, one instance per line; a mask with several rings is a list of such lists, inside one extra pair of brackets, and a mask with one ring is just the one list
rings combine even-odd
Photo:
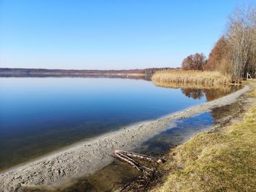
[(139, 69), (208, 53), (240, 0), (0, 0), (0, 67)]

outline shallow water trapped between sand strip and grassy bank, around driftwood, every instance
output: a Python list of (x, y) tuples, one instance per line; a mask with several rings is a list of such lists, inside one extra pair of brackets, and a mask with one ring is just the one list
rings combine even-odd
[[(214, 122), (215, 120), (209, 112), (192, 118), (176, 120), (175, 127), (162, 131), (133, 151), (153, 156), (164, 155), (170, 151), (171, 147), (180, 145), (199, 132), (209, 130)], [(78, 180), (70, 181), (74, 183), (67, 188), (61, 187), (55, 190), (61, 192), (110, 191), (118, 186), (120, 182), (129, 183), (129, 180), (132, 180), (132, 178), (138, 174), (140, 173), (132, 169), (131, 166), (121, 163), (120, 161), (114, 161), (112, 164), (105, 166), (105, 168), (89, 177), (81, 177)]]

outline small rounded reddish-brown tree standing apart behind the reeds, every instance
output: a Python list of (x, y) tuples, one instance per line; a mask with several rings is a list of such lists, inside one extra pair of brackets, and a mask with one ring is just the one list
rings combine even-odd
[(181, 69), (184, 70), (202, 70), (206, 64), (206, 55), (203, 53), (195, 53), (184, 58), (181, 64)]

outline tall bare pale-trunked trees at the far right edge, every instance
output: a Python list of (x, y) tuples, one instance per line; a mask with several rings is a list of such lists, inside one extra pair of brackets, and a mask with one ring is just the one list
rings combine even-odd
[(255, 70), (255, 8), (237, 9), (230, 17), (227, 28), (227, 43), (233, 77), (245, 78)]

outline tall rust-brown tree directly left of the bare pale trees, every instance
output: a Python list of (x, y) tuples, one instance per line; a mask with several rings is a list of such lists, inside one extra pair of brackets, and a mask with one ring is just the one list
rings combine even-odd
[(230, 65), (227, 62), (227, 50), (227, 40), (222, 36), (211, 50), (205, 70), (230, 73)]

